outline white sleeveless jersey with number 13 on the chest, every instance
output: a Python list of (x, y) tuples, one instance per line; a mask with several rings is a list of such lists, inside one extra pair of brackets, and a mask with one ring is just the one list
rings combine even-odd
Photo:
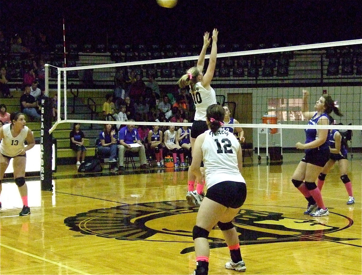
[(17, 137), (13, 137), (10, 131), (10, 123), (3, 126), (4, 138), (1, 139), (0, 152), (5, 156), (17, 156), (25, 148), (24, 141), (28, 136), (28, 126), (21, 129)]

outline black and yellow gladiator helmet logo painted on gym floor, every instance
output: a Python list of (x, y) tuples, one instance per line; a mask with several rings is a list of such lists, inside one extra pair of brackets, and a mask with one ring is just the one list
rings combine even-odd
[[(70, 230), (85, 235), (190, 243), (190, 247), (181, 251), (184, 254), (194, 251), (192, 229), (197, 211), (197, 207), (189, 208), (185, 201), (124, 204), (80, 213), (64, 219), (64, 223)], [(330, 234), (350, 227), (352, 219), (331, 211), (330, 216), (322, 217), (306, 216), (302, 211), (290, 206), (244, 205), (233, 220), (240, 244), (357, 240)], [(210, 248), (226, 246), (220, 229), (214, 229), (209, 235)]]

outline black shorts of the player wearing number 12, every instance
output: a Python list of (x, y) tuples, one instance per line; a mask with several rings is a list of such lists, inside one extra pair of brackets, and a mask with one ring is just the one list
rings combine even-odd
[(247, 197), (247, 186), (244, 182), (222, 181), (207, 189), (205, 197), (226, 207), (239, 208)]

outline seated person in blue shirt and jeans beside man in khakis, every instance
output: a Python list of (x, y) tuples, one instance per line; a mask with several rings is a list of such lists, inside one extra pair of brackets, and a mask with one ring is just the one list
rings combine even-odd
[(117, 162), (117, 137), (111, 124), (105, 124), (104, 130), (99, 134), (100, 142), (97, 149), (102, 155), (109, 155), (109, 162)]

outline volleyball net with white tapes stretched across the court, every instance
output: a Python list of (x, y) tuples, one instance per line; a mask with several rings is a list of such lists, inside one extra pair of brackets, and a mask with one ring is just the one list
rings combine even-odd
[[(257, 50), (250, 48), (251, 45), (246, 45), (241, 51), (237, 44), (228, 49), (219, 44), (211, 82), (218, 103), (227, 105), (231, 116), (239, 121), (239, 124), (230, 126), (243, 127), (245, 136), (250, 137), (249, 142), (256, 144), (256, 134), (260, 128), (285, 128), (283, 135), (290, 137), (291, 144), (303, 140), (300, 137), (300, 134), (304, 136), (302, 129), (330, 129), (329, 125), (306, 125), (301, 111), (303, 89), (310, 93), (310, 111), (314, 110), (314, 104), (321, 95), (329, 94), (337, 101), (344, 115), (337, 117), (333, 112), (331, 114), (336, 124), (343, 124), (338, 125), (338, 129), (362, 130), (362, 39), (289, 47), (273, 45), (272, 48), (260, 44)], [(189, 98), (189, 91), (181, 90), (176, 82), (197, 63), (200, 51), (201, 45), (190, 48), (139, 48), (124, 52), (114, 50), (102, 55), (102, 60), (94, 55), (88, 57), (88, 63), (80, 59), (67, 62), (71, 66), (68, 68), (47, 66), (51, 71), (46, 74), (46, 84), (53, 81), (58, 95), (58, 118), (50, 132), (60, 123), (117, 124), (106, 121), (103, 113), (106, 95), (113, 94), (116, 85), (121, 87), (121, 92), (125, 90), (135, 109), (129, 118), (136, 122), (122, 121), (122, 124), (191, 126), (194, 112), (192, 98)], [(209, 55), (206, 55), (204, 73), (208, 59)], [(92, 65), (82, 66), (84, 64)], [(161, 97), (156, 95), (156, 103), (163, 100), (163, 95), (168, 95), (172, 107), (174, 102), (184, 98), (180, 104), (186, 103), (188, 109), (181, 112), (181, 116), (189, 123), (155, 122), (159, 111), (151, 103), (154, 98), (152, 83), (148, 84), (150, 75), (160, 89)], [(141, 81), (134, 82), (133, 78)], [(46, 86), (49, 89), (49, 85)], [(141, 92), (142, 89), (145, 92)], [(148, 108), (142, 106), (145, 100), (150, 102)], [(115, 102), (115, 114), (123, 104)], [(169, 118), (172, 116), (179, 121), (176, 111)], [(263, 117), (273, 117), (277, 124), (263, 124), (270, 122), (263, 120)], [(352, 146), (360, 147), (361, 142), (361, 135), (356, 135)]]

